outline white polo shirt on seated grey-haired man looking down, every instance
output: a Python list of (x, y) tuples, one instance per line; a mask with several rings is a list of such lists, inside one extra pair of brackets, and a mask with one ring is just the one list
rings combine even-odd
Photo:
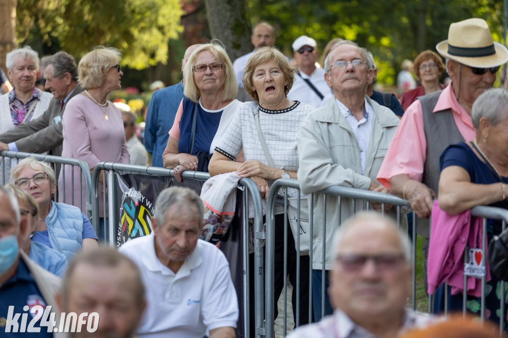
[(136, 335), (140, 337), (202, 338), (206, 330), (238, 321), (238, 299), (224, 254), (198, 240), (175, 274), (155, 255), (155, 236), (142, 236), (119, 251), (140, 268), (147, 308)]

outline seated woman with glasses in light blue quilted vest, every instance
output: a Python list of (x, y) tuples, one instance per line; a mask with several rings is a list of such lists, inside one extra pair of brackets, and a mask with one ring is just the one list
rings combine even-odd
[(55, 173), (45, 162), (27, 157), (11, 170), (11, 183), (26, 191), (39, 205), (37, 231), (31, 240), (62, 253), (67, 260), (76, 252), (98, 247), (97, 235), (77, 207), (51, 200)]

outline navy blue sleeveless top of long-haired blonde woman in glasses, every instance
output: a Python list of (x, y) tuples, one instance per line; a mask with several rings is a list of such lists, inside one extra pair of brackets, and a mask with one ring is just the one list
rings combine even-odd
[(198, 114), (196, 120), (196, 136), (194, 139), (194, 154), (203, 151), (210, 153), (210, 145), (212, 144), (217, 128), (219, 127), (220, 117), (223, 110), (218, 112), (207, 112), (201, 108), (199, 103), (195, 104), (187, 97), (183, 97), (183, 113), (180, 118), (180, 138), (178, 139), (178, 153), (189, 153), (190, 138), (192, 135), (192, 121), (194, 108), (197, 107)]

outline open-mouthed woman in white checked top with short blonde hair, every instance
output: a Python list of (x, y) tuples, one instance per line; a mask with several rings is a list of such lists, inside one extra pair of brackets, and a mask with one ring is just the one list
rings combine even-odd
[[(240, 177), (249, 177), (256, 183), (261, 196), (267, 198), (271, 184), (279, 178), (297, 178), (298, 151), (296, 133), (303, 119), (315, 108), (287, 98), (293, 85), (295, 68), (290, 66), (284, 55), (275, 47), (263, 47), (247, 61), (243, 73), (243, 87), (256, 102), (240, 106), (228, 130), (217, 144), (210, 160), (210, 175), (235, 172)], [(256, 117), (257, 116), (257, 117)], [(256, 127), (259, 118), (260, 133), (273, 164), (270, 165), (261, 146), (261, 137)], [(245, 162), (234, 162), (243, 148)], [(298, 190), (288, 189), (290, 197), (297, 197)], [(294, 237), (288, 227), (288, 275), (296, 287), (300, 279), (300, 324), (308, 323), (308, 280), (309, 256), (300, 256), (300, 276), (297, 276)], [(284, 286), (284, 208), (275, 207), (275, 298), (278, 299)], [(251, 259), (253, 259), (251, 257)], [(253, 261), (253, 260), (252, 260)], [(251, 266), (254, 266), (252, 263)], [(253, 273), (253, 272), (252, 272)], [(293, 293), (293, 314), (296, 322), (296, 295)], [(276, 309), (276, 304), (274, 305)], [(253, 314), (254, 311), (252, 310)], [(275, 315), (276, 316), (276, 315)]]

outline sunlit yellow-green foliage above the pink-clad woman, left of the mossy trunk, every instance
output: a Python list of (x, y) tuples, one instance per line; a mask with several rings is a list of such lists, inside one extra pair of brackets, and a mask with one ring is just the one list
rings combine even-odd
[(182, 14), (178, 0), (18, 0), (17, 40), (23, 44), (37, 25), (45, 43), (56, 38), (76, 57), (112, 46), (122, 51), (122, 65), (144, 69), (167, 62)]

